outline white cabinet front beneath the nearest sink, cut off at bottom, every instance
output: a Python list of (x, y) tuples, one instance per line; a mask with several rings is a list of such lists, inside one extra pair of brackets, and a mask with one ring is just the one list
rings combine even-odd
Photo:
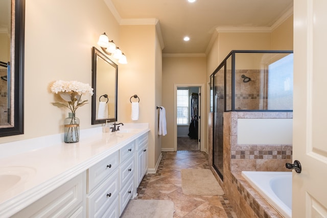
[(85, 217), (85, 172), (11, 217)]

